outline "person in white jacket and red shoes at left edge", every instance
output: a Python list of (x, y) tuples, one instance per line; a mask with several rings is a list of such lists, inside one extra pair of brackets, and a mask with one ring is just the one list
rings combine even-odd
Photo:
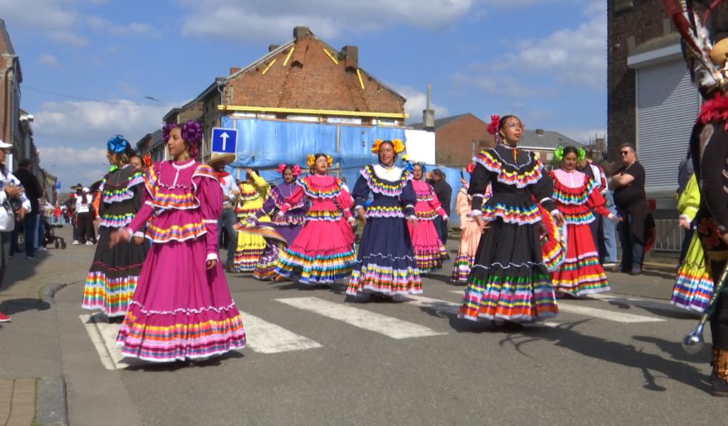
[[(0, 288), (2, 287), (7, 257), (10, 252), (10, 233), (15, 229), (15, 220), (23, 220), (31, 211), (31, 201), (25, 196), (23, 185), (5, 166), (5, 157), (12, 145), (0, 140)], [(0, 323), (10, 321), (10, 317), (0, 312)]]

